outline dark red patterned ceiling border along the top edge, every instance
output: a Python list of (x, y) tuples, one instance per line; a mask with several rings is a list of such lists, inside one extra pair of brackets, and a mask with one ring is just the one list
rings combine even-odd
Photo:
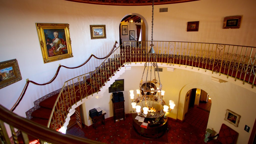
[[(78, 3), (119, 6), (146, 6), (152, 5), (152, 0), (64, 0)], [(154, 0), (154, 5), (176, 4), (200, 0)]]

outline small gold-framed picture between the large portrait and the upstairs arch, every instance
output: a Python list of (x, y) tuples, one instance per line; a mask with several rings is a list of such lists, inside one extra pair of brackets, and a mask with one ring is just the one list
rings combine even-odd
[(107, 38), (106, 25), (90, 25), (91, 39)]

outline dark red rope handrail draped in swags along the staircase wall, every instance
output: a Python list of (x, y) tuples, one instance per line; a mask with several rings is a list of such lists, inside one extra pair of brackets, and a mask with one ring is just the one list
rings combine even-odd
[(88, 63), (88, 61), (89, 61), (92, 57), (94, 57), (94, 58), (96, 58), (96, 59), (105, 59), (105, 58), (109, 57), (109, 56), (112, 54), (112, 52), (113, 52), (114, 49), (116, 48), (116, 44), (117, 44), (117, 43), (118, 43), (118, 42), (115, 41), (115, 44), (114, 44), (114, 46), (113, 46), (111, 52), (110, 52), (107, 56), (105, 56), (105, 57), (103, 57), (103, 58), (99, 58), (99, 57), (97, 57), (97, 56), (91, 54), (91, 56), (90, 56), (83, 64), (81, 64), (81, 65), (79, 65), (79, 66), (77, 66), (77, 67), (67, 67), (67, 66), (59, 65), (59, 67), (58, 67), (58, 69), (57, 69), (57, 71), (56, 71), (54, 77), (53, 77), (48, 83), (45, 83), (45, 84), (38, 84), (38, 83), (36, 83), (35, 81), (31, 81), (31, 80), (27, 79), (27, 83), (26, 83), (26, 85), (25, 85), (25, 89), (23, 90), (23, 93), (22, 93), (21, 97), (19, 98), (19, 100), (17, 100), (17, 102), (15, 103), (15, 105), (12, 107), (12, 110), (11, 110), (11, 111), (14, 111), (14, 110), (16, 109), (16, 107), (19, 105), (20, 101), (23, 99), (23, 97), (24, 97), (24, 95), (25, 95), (25, 93), (26, 93), (26, 90), (27, 90), (27, 88), (28, 88), (28, 84), (29, 84), (30, 82), (33, 83), (33, 84), (35, 84), (35, 85), (40, 85), (40, 86), (48, 85), (48, 84), (52, 83), (52, 82), (56, 79), (56, 77), (57, 77), (58, 74), (59, 74), (59, 71), (60, 71), (60, 68), (61, 68), (61, 67), (65, 67), (65, 68), (68, 68), (68, 69), (75, 69), (75, 68), (79, 68), (79, 67), (85, 65), (86, 63)]

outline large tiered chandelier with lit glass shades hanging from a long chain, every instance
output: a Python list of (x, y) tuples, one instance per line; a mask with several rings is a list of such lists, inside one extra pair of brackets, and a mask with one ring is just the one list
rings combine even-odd
[[(148, 59), (144, 64), (144, 71), (140, 81), (140, 89), (136, 90), (137, 96), (135, 99), (134, 90), (130, 90), (130, 98), (132, 100), (133, 111), (137, 112), (138, 115), (146, 118), (157, 118), (162, 116), (166, 118), (167, 113), (174, 108), (175, 104), (174, 101), (170, 100), (169, 106), (167, 106), (164, 100), (165, 91), (162, 90), (155, 50), (153, 48), (153, 16), (154, 1), (152, 1), (151, 48), (148, 52)], [(156, 79), (156, 72), (158, 80)], [(144, 74), (146, 74), (146, 77), (143, 79)], [(154, 79), (152, 79), (153, 76), (155, 77)]]

